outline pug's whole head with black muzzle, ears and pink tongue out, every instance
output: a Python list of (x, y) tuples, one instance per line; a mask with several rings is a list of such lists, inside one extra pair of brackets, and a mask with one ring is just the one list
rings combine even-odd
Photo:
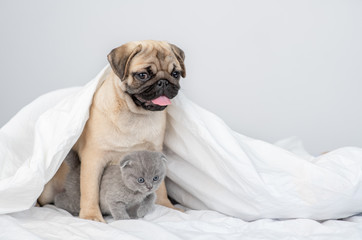
[(133, 102), (150, 111), (164, 110), (186, 76), (184, 52), (159, 41), (130, 42), (113, 49), (108, 61)]

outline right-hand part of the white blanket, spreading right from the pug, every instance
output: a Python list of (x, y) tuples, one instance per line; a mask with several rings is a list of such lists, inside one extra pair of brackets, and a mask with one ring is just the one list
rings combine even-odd
[(362, 211), (362, 148), (312, 157), (294, 138), (281, 148), (232, 131), (183, 94), (168, 110), (168, 189), (183, 205), (245, 220)]

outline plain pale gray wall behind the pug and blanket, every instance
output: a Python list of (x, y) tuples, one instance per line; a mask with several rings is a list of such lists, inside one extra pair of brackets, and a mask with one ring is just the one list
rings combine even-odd
[(0, 1), (0, 126), (128, 41), (186, 52), (184, 93), (234, 130), (362, 147), (362, 1)]

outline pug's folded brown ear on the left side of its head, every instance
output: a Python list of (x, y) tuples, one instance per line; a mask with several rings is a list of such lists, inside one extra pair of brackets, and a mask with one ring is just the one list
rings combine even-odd
[(128, 68), (132, 58), (142, 50), (142, 45), (136, 47), (124, 44), (113, 49), (107, 56), (113, 72), (123, 81), (128, 77)]

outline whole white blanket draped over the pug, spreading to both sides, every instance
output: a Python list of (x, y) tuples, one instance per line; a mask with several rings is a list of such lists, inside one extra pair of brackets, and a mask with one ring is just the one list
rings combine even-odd
[[(30, 208), (79, 138), (106, 66), (84, 87), (45, 94), (0, 130), (0, 213)], [(362, 211), (362, 149), (312, 157), (295, 139), (273, 145), (231, 130), (182, 92), (167, 107), (172, 198), (244, 220), (351, 216)]]

